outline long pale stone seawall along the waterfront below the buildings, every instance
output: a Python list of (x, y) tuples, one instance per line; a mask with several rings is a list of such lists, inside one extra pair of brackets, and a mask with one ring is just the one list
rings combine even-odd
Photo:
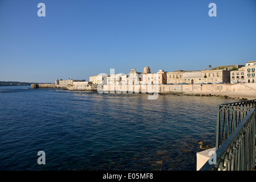
[[(93, 90), (97, 91), (96, 85), (84, 86), (61, 86), (55, 84), (31, 84), (31, 88), (64, 88), (68, 90)], [(126, 89), (122, 85), (104, 85), (103, 92), (137, 92), (137, 93), (154, 93), (154, 90), (146, 85), (127, 85)], [(156, 86), (157, 88), (157, 86)], [(203, 84), (203, 85), (158, 85), (159, 93), (185, 93), (185, 94), (215, 94), (227, 96), (250, 96), (256, 97), (256, 83), (255, 84)], [(157, 90), (155, 90), (157, 92)]]

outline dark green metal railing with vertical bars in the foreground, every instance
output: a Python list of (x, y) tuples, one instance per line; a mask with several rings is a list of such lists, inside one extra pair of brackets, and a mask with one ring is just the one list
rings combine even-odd
[(218, 106), (215, 163), (200, 171), (255, 169), (255, 106), (256, 100)]

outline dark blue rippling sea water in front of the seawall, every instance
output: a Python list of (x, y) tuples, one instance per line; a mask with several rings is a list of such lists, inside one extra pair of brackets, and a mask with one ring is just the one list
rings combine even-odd
[(194, 171), (217, 105), (233, 101), (29, 87), (0, 86), (0, 170)]

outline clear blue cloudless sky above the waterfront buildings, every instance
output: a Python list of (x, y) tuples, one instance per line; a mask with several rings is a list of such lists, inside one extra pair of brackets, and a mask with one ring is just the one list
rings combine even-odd
[[(208, 15), (210, 3), (217, 16)], [(253, 60), (255, 0), (0, 0), (0, 81), (89, 81), (110, 69), (196, 71)]]

